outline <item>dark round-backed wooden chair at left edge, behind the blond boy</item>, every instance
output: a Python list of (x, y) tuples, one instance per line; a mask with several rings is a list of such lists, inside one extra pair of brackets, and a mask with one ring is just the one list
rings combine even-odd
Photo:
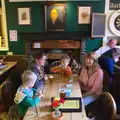
[(7, 112), (11, 105), (14, 103), (12, 82), (9, 80), (4, 81), (0, 86), (1, 103)]

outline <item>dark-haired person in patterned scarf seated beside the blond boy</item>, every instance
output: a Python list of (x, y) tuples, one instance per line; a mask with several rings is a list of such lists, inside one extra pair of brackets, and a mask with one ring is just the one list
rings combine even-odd
[(47, 74), (45, 74), (44, 66), (46, 63), (47, 55), (41, 51), (36, 52), (34, 55), (34, 63), (29, 66), (28, 69), (32, 70), (37, 75), (37, 80), (35, 82), (34, 88), (40, 89), (44, 87), (45, 81), (48, 80)]

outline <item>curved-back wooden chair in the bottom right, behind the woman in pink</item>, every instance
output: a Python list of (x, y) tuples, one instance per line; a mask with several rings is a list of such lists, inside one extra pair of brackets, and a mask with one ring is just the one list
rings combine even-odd
[(108, 92), (103, 92), (97, 102), (96, 120), (115, 120), (116, 103), (112, 95)]

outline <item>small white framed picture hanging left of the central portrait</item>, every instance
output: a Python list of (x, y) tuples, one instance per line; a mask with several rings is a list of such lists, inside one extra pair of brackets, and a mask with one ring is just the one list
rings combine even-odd
[(31, 24), (31, 16), (30, 16), (30, 8), (18, 8), (18, 24), (19, 25), (30, 25)]

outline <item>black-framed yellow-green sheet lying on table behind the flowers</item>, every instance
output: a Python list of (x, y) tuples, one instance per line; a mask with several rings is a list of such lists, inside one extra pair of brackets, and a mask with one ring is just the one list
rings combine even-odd
[[(54, 97), (51, 98), (51, 102)], [(82, 112), (82, 99), (81, 97), (66, 97), (64, 104), (59, 107), (62, 112)], [(54, 108), (52, 108), (54, 110)]]

